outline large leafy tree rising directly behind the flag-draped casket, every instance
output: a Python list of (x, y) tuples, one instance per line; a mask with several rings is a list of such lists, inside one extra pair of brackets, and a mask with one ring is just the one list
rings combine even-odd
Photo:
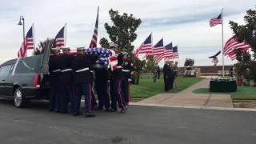
[[(112, 26), (109, 23), (105, 23), (104, 27), (106, 33), (109, 34), (110, 41), (118, 44), (118, 51), (128, 52), (128, 58), (133, 57), (134, 46), (131, 45), (137, 38), (135, 31), (138, 26), (142, 23), (140, 18), (134, 18), (133, 14), (122, 14), (118, 13), (118, 10), (110, 10), (110, 19), (113, 22)], [(102, 47), (108, 46), (107, 38), (100, 40)]]

